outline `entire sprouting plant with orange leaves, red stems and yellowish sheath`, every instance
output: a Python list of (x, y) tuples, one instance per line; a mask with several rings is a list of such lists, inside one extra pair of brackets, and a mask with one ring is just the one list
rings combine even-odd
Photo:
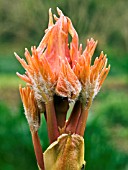
[[(97, 41), (87, 40), (83, 50), (71, 20), (57, 8), (49, 10), (49, 24), (39, 46), (25, 49), (25, 57), (15, 56), (26, 70), (17, 75), (27, 83), (20, 87), (30, 130), (37, 132), (44, 112), (50, 146), (42, 155), (38, 134), (32, 140), (39, 169), (80, 170), (84, 168), (84, 131), (88, 112), (109, 70), (103, 52), (92, 63)], [(69, 44), (68, 39), (71, 36)], [(66, 120), (69, 104), (74, 102)], [(44, 160), (44, 161), (43, 161)], [(49, 161), (50, 160), (50, 161)]]

